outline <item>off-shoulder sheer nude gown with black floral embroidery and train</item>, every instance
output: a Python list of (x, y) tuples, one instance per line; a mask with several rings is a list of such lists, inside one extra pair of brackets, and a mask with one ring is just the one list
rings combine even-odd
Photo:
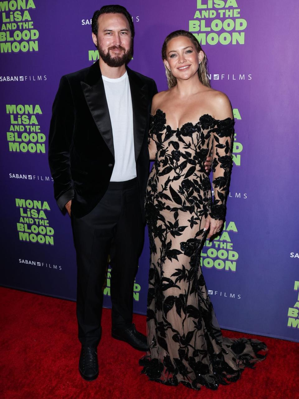
[[(150, 120), (157, 152), (145, 201), (150, 352), (140, 364), (149, 379), (166, 385), (217, 389), (264, 359), (258, 352), (267, 349), (257, 340), (222, 338), (200, 267), (206, 218), (223, 220), (226, 213), (234, 120), (203, 115), (177, 130), (165, 124), (157, 110)], [(204, 169), (211, 153), (213, 201)]]

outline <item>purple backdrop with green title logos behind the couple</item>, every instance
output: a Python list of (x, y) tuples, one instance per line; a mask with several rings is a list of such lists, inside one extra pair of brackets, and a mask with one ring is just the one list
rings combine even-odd
[[(53, 198), (47, 136), (61, 75), (98, 57), (90, 22), (104, 4), (0, 2), (3, 286), (75, 300), (71, 224)], [(130, 68), (166, 89), (161, 45), (173, 30), (189, 30), (207, 53), (212, 87), (226, 93), (234, 109), (226, 225), (202, 253), (219, 324), (299, 341), (297, 0), (123, 0), (122, 5), (136, 28)], [(146, 232), (134, 286), (134, 310), (142, 314), (148, 267)], [(105, 306), (109, 276), (108, 270)]]

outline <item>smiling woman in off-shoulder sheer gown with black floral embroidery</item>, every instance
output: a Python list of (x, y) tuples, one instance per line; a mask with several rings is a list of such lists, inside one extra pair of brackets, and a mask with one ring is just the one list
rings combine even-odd
[[(162, 47), (169, 90), (154, 96), (146, 217), (151, 265), (148, 344), (140, 360), (149, 379), (217, 389), (265, 356), (257, 340), (222, 338), (201, 274), (200, 251), (226, 213), (234, 119), (230, 101), (210, 88), (207, 57), (179, 30)], [(212, 154), (214, 200), (204, 162)], [(209, 234), (207, 235), (207, 231)]]

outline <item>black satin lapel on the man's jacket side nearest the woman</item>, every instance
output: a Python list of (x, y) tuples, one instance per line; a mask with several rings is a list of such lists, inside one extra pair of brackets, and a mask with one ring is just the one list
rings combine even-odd
[(148, 118), (148, 91), (147, 86), (143, 84), (142, 80), (127, 67), (132, 108), (133, 108), (133, 132), (134, 132), (134, 152), (135, 160), (137, 161), (141, 146), (144, 140), (146, 130), (146, 121)]

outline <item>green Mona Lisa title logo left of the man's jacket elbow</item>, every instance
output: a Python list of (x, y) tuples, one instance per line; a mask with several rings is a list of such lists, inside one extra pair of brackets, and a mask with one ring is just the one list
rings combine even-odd
[(39, 105), (6, 105), (10, 115), (10, 128), (6, 133), (10, 152), (31, 152), (45, 154), (45, 134), (41, 133), (38, 115)]

